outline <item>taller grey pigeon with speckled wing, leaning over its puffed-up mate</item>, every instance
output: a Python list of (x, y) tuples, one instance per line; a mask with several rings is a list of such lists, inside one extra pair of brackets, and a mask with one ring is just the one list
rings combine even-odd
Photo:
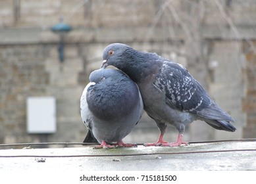
[[(160, 130), (156, 143), (145, 146), (180, 146), (185, 127), (194, 120), (203, 120), (215, 129), (235, 131), (234, 119), (222, 110), (205, 89), (181, 64), (156, 53), (136, 51), (122, 43), (108, 45), (103, 51), (101, 68), (112, 65), (135, 81), (143, 98), (144, 110)], [(179, 131), (176, 143), (163, 141), (168, 124)]]

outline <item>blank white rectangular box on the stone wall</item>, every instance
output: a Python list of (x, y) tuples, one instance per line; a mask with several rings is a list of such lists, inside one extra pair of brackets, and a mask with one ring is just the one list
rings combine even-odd
[(28, 97), (27, 132), (55, 133), (56, 132), (56, 100), (55, 97)]

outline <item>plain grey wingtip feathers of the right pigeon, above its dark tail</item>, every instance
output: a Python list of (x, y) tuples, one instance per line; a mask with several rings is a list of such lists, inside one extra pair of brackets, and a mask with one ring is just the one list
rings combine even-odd
[(210, 120), (234, 122), (234, 119), (224, 110), (222, 110), (216, 103), (211, 104), (211, 106), (205, 106), (203, 109), (197, 112), (197, 114)]

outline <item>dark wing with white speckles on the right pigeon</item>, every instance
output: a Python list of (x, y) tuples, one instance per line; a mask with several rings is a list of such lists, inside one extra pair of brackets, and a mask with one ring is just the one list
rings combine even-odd
[(200, 115), (201, 110), (214, 103), (188, 70), (175, 62), (163, 62), (154, 84), (165, 93), (166, 104), (184, 112)]

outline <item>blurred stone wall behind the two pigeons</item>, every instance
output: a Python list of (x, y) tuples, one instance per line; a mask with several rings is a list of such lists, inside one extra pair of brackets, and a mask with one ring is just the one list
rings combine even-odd
[[(63, 17), (72, 31), (51, 26)], [(1, 0), (0, 143), (81, 142), (80, 95), (109, 43), (158, 53), (188, 68), (236, 120), (235, 133), (204, 122), (187, 127), (184, 140), (256, 138), (256, 1), (254, 0)], [(57, 99), (57, 132), (26, 132), (26, 98)], [(159, 131), (145, 113), (125, 141), (156, 141)], [(178, 132), (168, 127), (165, 139)]]

